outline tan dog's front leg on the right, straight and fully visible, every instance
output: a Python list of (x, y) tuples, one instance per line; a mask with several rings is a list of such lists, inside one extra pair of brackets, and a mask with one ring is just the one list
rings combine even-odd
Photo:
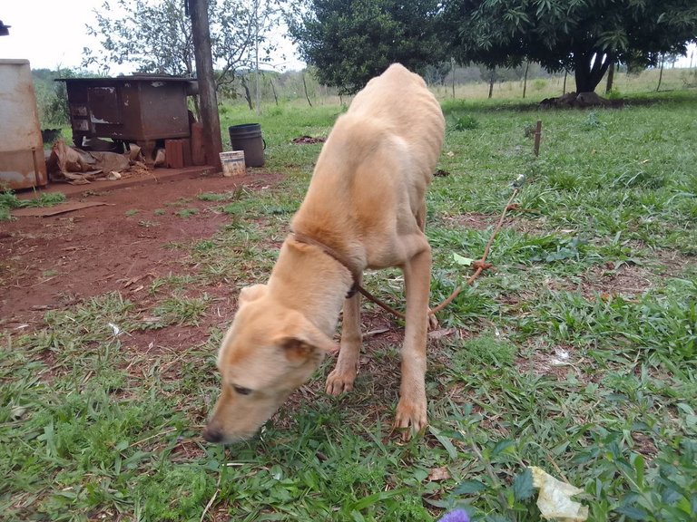
[(401, 353), (402, 381), (395, 428), (403, 430), (405, 440), (411, 437), (411, 431), (424, 430), (428, 422), (425, 379), (431, 248), (426, 237), (419, 239), (417, 253), (402, 267), (407, 294), (407, 324)]

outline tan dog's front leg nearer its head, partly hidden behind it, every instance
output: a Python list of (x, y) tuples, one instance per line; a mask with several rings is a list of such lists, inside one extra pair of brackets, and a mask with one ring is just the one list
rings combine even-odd
[[(358, 281), (360, 285), (360, 281)], [(360, 294), (356, 293), (344, 301), (344, 318), (341, 326), (341, 349), (337, 366), (327, 377), (327, 393), (339, 395), (353, 390), (358, 372), (358, 357), (362, 344), (360, 333)]]

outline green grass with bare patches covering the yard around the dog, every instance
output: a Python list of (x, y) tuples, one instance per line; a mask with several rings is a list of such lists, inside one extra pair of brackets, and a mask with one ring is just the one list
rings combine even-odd
[[(3, 333), (5, 519), (431, 521), (460, 506), (528, 522), (541, 519), (527, 471), (538, 466), (584, 489), (589, 520), (693, 520), (695, 106), (691, 91), (637, 94), (622, 111), (444, 100), (449, 175), (428, 194), (434, 303), (469, 275), (454, 254), (481, 256), (511, 183), (526, 180), (495, 268), (439, 315), (429, 430), (390, 437), (400, 324), (367, 305), (365, 328), (390, 333), (367, 338), (355, 391), (324, 394), (327, 361), (258, 438), (222, 449), (199, 437), (230, 320), (220, 306), (268, 277), (307, 188), (320, 145), (290, 140), (325, 136), (343, 110), (231, 107), (223, 126), (261, 122), (278, 186), (166, 205), (183, 218), (198, 198), (229, 219), (172, 245), (182, 273), (152, 280), (142, 302), (100, 295)], [(403, 302), (398, 271), (366, 284)], [(202, 341), (179, 340), (193, 331)]]

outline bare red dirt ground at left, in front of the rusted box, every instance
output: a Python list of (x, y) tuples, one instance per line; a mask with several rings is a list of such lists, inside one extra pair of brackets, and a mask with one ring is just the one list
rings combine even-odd
[[(239, 178), (185, 173), (162, 177), (157, 184), (109, 191), (103, 191), (108, 182), (78, 191), (64, 186), (65, 192), (74, 193), (70, 202), (107, 205), (50, 218), (0, 222), (0, 330), (37, 324), (46, 310), (93, 295), (133, 291), (155, 277), (182, 274), (185, 267), (178, 260), (185, 253), (166, 246), (211, 237), (229, 219), (214, 211), (220, 204), (201, 201), (197, 195), (232, 191), (241, 185), (261, 189), (279, 179), (268, 173)], [(51, 191), (61, 189), (54, 185)], [(176, 215), (190, 208), (198, 213), (188, 218)], [(165, 214), (154, 214), (156, 209)]]

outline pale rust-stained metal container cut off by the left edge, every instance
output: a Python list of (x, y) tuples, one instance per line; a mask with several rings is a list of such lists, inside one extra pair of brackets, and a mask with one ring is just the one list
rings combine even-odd
[(29, 62), (0, 60), (0, 189), (30, 189), (47, 182)]

